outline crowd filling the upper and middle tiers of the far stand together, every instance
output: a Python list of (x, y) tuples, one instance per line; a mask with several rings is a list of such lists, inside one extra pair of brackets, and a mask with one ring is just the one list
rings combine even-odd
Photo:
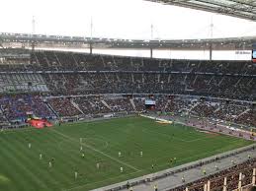
[[(35, 51), (17, 69), (47, 71), (52, 96), (86, 94), (182, 94), (252, 100), (256, 66), (245, 61), (169, 60), (61, 51)], [(28, 59), (28, 58), (27, 58)], [(12, 64), (16, 66), (16, 64)], [(21, 67), (25, 67), (25, 69)], [(3, 70), (2, 70), (3, 69)]]

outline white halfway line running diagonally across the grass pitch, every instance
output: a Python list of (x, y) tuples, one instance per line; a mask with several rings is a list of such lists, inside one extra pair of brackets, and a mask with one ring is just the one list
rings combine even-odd
[[(63, 133), (60, 133), (59, 131), (56, 131), (56, 130), (53, 129), (53, 128), (51, 129), (51, 131), (55, 132), (55, 133), (58, 134), (58, 135), (61, 135), (62, 137), (65, 137), (66, 139), (69, 139), (70, 141), (80, 143), (79, 141), (77, 141), (77, 140), (75, 140), (75, 139), (73, 139), (73, 138), (71, 138), (71, 137), (69, 137), (69, 136), (67, 136), (67, 135), (65, 135), (65, 134), (63, 134)], [(83, 146), (85, 146), (85, 147), (87, 147), (87, 148), (93, 150), (94, 152), (97, 152), (97, 153), (99, 153), (99, 154), (101, 154), (101, 155), (103, 155), (103, 156), (105, 156), (105, 157), (107, 157), (107, 158), (109, 158), (109, 159), (113, 159), (113, 160), (115, 160), (115, 161), (118, 161), (119, 163), (122, 163), (122, 164), (128, 166), (128, 167), (131, 168), (131, 169), (134, 169), (134, 170), (136, 170), (136, 171), (140, 171), (140, 170), (137, 169), (136, 167), (134, 167), (134, 166), (128, 164), (127, 162), (124, 162), (124, 161), (122, 161), (122, 160), (120, 160), (120, 159), (113, 158), (113, 157), (111, 157), (110, 155), (105, 154), (105, 153), (103, 153), (103, 152), (101, 152), (101, 151), (95, 149), (95, 148), (92, 147), (92, 146), (86, 145), (86, 144), (84, 144), (84, 143), (81, 143), (81, 145), (83, 145)]]

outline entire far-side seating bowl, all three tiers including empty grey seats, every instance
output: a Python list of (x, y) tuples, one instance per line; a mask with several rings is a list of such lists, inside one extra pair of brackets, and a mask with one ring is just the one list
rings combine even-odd
[[(256, 73), (256, 67), (251, 62), (167, 60), (35, 51), (31, 54), (31, 60), (9, 59), (2, 60), (0, 64), (0, 103), (3, 115), (8, 120), (24, 118), (26, 111), (35, 111), (43, 117), (143, 111), (144, 98), (139, 97), (146, 97), (144, 94), (166, 94), (153, 97), (156, 100), (155, 110), (186, 112), (256, 125), (255, 109), (251, 101), (256, 97), (256, 79), (250, 76)], [(34, 96), (30, 94), (32, 92)], [(13, 93), (16, 96), (10, 96)], [(32, 106), (31, 102), (34, 101), (19, 96), (24, 93), (36, 100), (39, 95), (46, 96), (47, 102), (36, 101), (37, 104)], [(106, 94), (133, 97), (129, 100), (126, 96), (97, 96)], [(181, 96), (173, 98), (168, 95)], [(195, 99), (190, 96), (199, 97)], [(202, 101), (200, 96), (216, 98)], [(21, 97), (25, 102), (21, 101)], [(13, 108), (12, 104), (20, 106)], [(45, 113), (36, 108), (42, 106), (46, 108)]]

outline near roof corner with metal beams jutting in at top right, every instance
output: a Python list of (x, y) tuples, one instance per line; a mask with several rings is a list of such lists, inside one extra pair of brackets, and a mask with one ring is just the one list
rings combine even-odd
[(147, 0), (256, 21), (255, 0)]

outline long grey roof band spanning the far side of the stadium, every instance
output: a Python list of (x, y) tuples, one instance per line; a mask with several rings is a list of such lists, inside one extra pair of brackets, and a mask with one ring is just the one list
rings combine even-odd
[(177, 50), (244, 50), (251, 49), (256, 43), (256, 36), (229, 37), (229, 38), (206, 38), (206, 39), (118, 39), (97, 38), (83, 36), (43, 35), (29, 33), (6, 33), (0, 32), (0, 46), (19, 47), (74, 47), (84, 48), (89, 44), (93, 47), (102, 48), (154, 48), (154, 49), (177, 49)]

